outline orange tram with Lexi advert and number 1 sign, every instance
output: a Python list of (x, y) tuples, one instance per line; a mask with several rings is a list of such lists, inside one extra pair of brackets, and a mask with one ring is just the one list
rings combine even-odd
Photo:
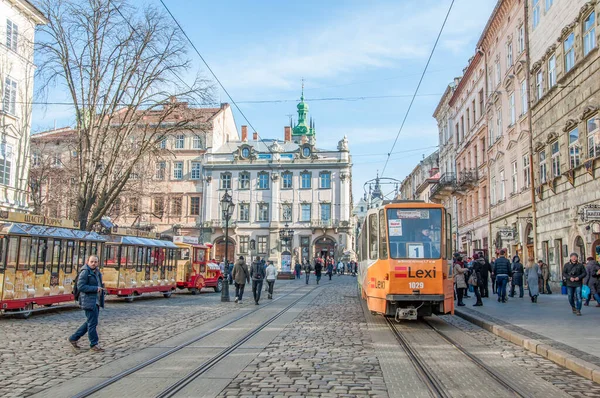
[(367, 211), (358, 282), (371, 312), (398, 321), (454, 313), (451, 225), (435, 203), (384, 201)]

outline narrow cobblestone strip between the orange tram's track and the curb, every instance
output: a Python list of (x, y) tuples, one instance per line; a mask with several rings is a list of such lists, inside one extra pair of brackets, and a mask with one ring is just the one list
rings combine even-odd
[(503, 358), (509, 359), (516, 366), (527, 369), (529, 372), (552, 383), (555, 387), (573, 397), (600, 397), (600, 385), (591, 380), (562, 368), (554, 362), (498, 337), (462, 318), (450, 315), (440, 318), (480, 341)]

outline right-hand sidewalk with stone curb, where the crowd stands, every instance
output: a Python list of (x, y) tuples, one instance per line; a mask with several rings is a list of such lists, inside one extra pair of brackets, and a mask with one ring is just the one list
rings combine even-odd
[[(600, 308), (595, 301), (582, 308), (582, 316), (576, 316), (560, 292), (540, 295), (537, 304), (531, 302), (527, 290), (522, 299), (509, 297), (505, 304), (497, 298), (494, 294), (484, 298), (482, 307), (473, 307), (474, 299), (466, 299), (465, 307), (456, 307), (456, 315), (569, 369), (583, 366), (571, 370), (600, 380)], [(577, 366), (569, 366), (570, 359)]]

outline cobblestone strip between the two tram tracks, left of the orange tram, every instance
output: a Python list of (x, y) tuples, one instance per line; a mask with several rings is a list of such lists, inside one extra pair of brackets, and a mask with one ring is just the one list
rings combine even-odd
[(220, 397), (387, 397), (356, 293), (356, 278), (329, 284)]

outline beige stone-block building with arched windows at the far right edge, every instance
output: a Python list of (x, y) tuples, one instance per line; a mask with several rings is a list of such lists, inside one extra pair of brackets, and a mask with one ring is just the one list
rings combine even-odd
[(600, 246), (600, 2), (529, 2), (537, 255), (560, 280)]

